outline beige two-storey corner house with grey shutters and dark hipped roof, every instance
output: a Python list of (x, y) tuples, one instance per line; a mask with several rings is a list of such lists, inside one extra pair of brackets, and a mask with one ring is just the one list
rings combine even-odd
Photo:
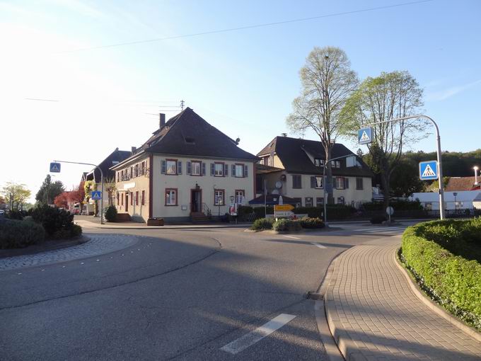
[(116, 174), (117, 212), (137, 222), (219, 217), (254, 197), (257, 157), (187, 108), (125, 161)]

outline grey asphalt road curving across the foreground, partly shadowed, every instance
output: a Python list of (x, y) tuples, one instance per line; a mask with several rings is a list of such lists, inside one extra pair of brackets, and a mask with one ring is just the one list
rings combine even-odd
[(136, 242), (0, 271), (0, 360), (327, 360), (306, 292), (340, 252), (402, 231), (342, 227), (84, 229)]

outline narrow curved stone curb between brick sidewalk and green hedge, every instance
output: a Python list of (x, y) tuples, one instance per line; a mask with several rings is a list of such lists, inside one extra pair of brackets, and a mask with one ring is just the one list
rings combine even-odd
[(425, 304), (429, 309), (431, 309), (431, 311), (434, 311), (438, 316), (441, 316), (443, 319), (451, 323), (451, 325), (455, 326), (456, 328), (459, 328), (460, 331), (467, 333), (468, 336), (471, 336), (481, 342), (481, 333), (477, 332), (475, 328), (468, 326), (462, 321), (460, 321), (456, 316), (453, 316), (452, 314), (448, 313), (448, 311), (443, 309), (441, 306), (439, 306), (439, 304), (436, 304), (436, 302), (429, 299), (429, 297), (427, 297), (424, 294), (424, 292), (421, 290), (419, 285), (417, 285), (417, 282), (412, 280), (410, 273), (408, 273), (404, 265), (402, 265), (400, 259), (397, 257), (399, 250), (400, 248), (396, 249), (395, 253), (393, 254), (395, 264), (400, 269), (402, 275), (405, 276), (407, 282), (410, 285), (412, 292), (416, 295), (416, 297), (420, 299), (421, 302)]

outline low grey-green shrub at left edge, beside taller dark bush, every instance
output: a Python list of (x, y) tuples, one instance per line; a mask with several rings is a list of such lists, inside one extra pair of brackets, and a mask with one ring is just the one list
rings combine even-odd
[(45, 239), (45, 230), (35, 222), (0, 222), (0, 248), (24, 248)]

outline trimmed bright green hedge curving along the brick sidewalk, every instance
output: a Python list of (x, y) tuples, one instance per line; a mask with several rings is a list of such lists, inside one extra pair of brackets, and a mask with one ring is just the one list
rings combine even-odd
[[(460, 231), (461, 230), (461, 231)], [(441, 246), (476, 235), (471, 246), (481, 246), (481, 219), (434, 221), (409, 227), (402, 235), (401, 259), (419, 285), (451, 313), (481, 330), (481, 264), (456, 256)]]

